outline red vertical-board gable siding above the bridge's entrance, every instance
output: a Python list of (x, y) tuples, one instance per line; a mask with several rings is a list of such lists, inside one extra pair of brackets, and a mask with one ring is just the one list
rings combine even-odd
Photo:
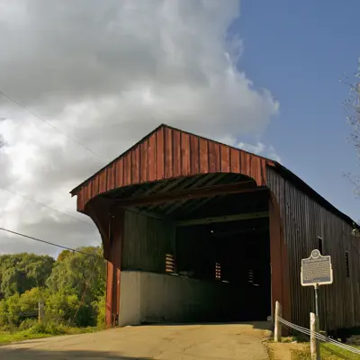
[(99, 193), (130, 184), (207, 173), (238, 173), (266, 185), (266, 159), (210, 139), (159, 127), (76, 189), (77, 210)]

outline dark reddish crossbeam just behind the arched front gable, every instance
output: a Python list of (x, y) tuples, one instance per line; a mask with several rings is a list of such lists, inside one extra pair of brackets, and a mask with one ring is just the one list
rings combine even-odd
[(230, 194), (230, 193), (252, 193), (256, 191), (266, 190), (266, 186), (254, 186), (254, 182), (242, 182), (235, 184), (223, 184), (215, 185), (211, 187), (205, 187), (200, 189), (187, 189), (179, 192), (170, 192), (170, 193), (157, 193), (149, 196), (140, 196), (138, 198), (126, 198), (116, 201), (116, 203), (121, 207), (130, 207), (130, 206), (144, 206), (153, 203), (162, 203), (162, 202), (174, 202), (176, 200), (190, 200), (198, 199), (208, 196), (216, 196), (220, 194)]

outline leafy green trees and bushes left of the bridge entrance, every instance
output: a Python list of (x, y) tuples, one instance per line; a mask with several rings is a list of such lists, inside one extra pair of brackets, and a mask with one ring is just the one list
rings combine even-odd
[(103, 325), (105, 266), (102, 247), (64, 250), (57, 261), (48, 256), (0, 256), (0, 327), (25, 329), (26, 316), (45, 303), (51, 323), (79, 327)]

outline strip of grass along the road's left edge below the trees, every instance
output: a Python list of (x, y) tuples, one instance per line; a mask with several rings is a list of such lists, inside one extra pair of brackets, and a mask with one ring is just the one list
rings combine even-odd
[(76, 335), (98, 331), (97, 328), (70, 328), (66, 326), (54, 325), (34, 325), (30, 329), (0, 331), (0, 345), (13, 343), (15, 341), (23, 341), (34, 338), (49, 338), (59, 335)]

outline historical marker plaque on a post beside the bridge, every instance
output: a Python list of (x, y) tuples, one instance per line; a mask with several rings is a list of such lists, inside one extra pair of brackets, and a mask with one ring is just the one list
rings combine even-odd
[(302, 259), (302, 286), (332, 284), (331, 257), (322, 257), (312, 250), (311, 257)]

